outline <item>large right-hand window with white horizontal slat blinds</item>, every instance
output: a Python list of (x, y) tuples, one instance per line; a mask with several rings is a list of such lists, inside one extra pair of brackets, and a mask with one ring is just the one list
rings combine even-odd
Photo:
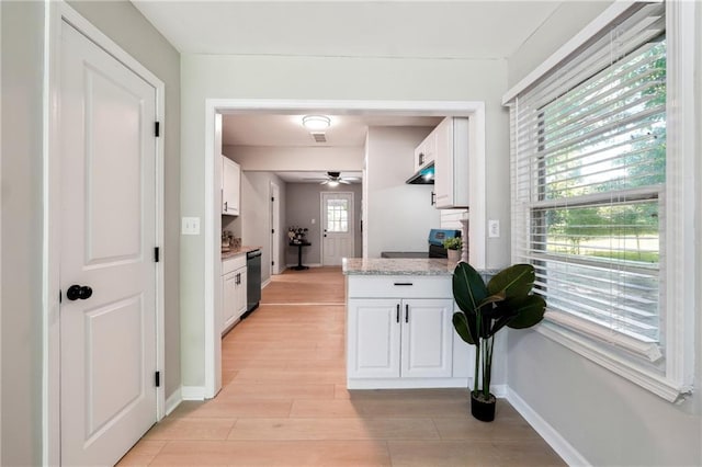
[(536, 270), (543, 332), (673, 400), (686, 389), (665, 287), (681, 216), (679, 173), (667, 173), (668, 47), (666, 4), (635, 4), (509, 106), (512, 255)]

